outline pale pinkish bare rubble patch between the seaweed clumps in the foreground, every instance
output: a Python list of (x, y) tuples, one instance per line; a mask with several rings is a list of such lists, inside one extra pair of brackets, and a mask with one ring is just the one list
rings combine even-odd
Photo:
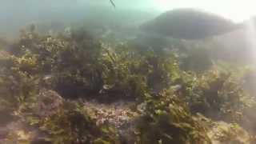
[(114, 102), (111, 105), (98, 102), (85, 102), (86, 110), (90, 111), (91, 117), (96, 120), (98, 125), (104, 122), (110, 123), (118, 130), (124, 143), (134, 143), (135, 121), (138, 114), (130, 110), (133, 102)]

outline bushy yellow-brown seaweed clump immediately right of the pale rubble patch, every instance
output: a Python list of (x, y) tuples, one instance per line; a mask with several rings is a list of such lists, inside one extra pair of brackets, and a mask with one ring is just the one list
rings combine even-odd
[(146, 110), (138, 122), (138, 143), (211, 143), (200, 118), (190, 113), (174, 90), (162, 90), (158, 96), (149, 96)]

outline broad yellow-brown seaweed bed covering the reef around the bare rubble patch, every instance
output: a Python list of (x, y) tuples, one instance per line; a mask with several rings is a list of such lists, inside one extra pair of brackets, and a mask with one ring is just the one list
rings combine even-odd
[(134, 102), (137, 143), (211, 143), (210, 120), (236, 122), (254, 134), (256, 103), (243, 89), (243, 73), (179, 67), (171, 50), (107, 44), (82, 30), (54, 37), (31, 28), (0, 54), (1, 110), (52, 143), (122, 143), (118, 130), (107, 120), (98, 125), (78, 98)]

